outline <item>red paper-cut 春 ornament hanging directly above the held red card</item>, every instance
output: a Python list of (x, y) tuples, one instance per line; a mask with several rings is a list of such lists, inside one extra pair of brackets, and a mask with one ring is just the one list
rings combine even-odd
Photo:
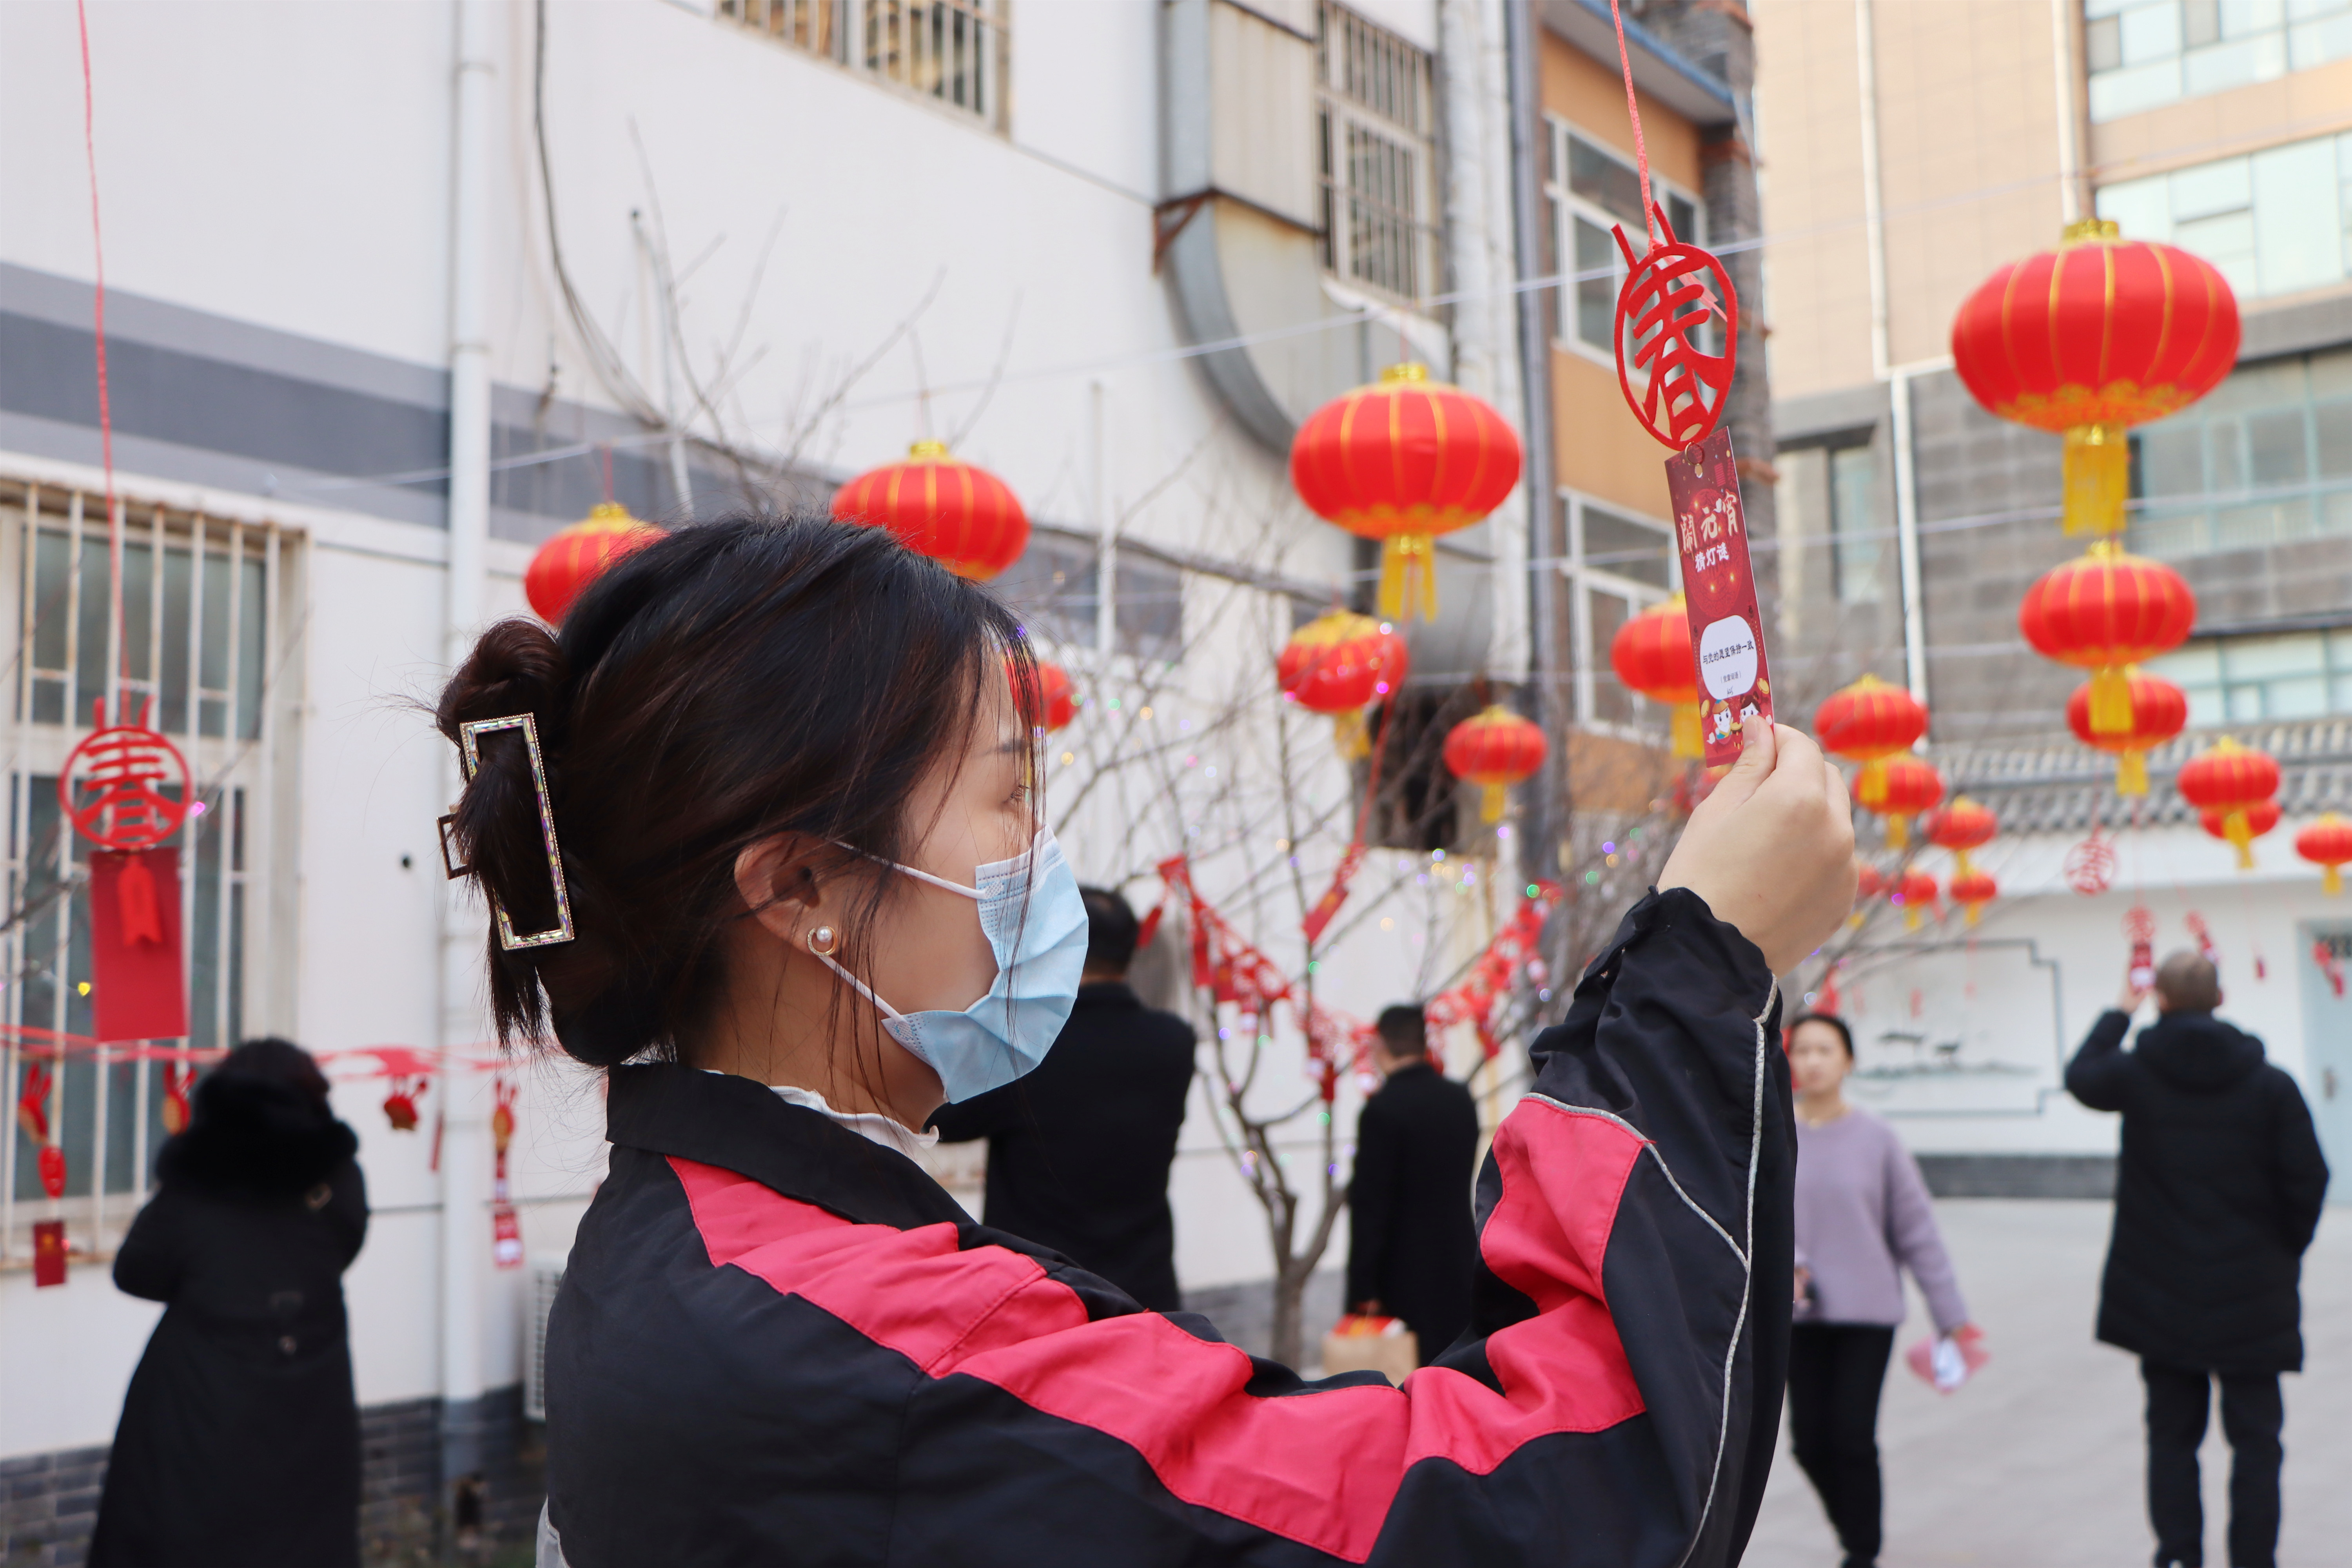
[[(1618, 390), (1644, 430), (1682, 451), (1708, 440), (1724, 416), (1740, 353), (1740, 299), (1722, 261), (1677, 240), (1663, 207), (1649, 212), (1658, 237), (1646, 256), (1635, 259), (1625, 228), (1616, 228), (1630, 268), (1616, 308)], [(1715, 317), (1724, 322), (1719, 355), (1696, 341)]]

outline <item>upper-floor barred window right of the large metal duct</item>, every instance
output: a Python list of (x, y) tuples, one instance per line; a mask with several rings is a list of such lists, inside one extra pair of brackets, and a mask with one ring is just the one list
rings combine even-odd
[(1324, 268), (1418, 301), (1437, 244), (1430, 54), (1324, 0), (1315, 61)]

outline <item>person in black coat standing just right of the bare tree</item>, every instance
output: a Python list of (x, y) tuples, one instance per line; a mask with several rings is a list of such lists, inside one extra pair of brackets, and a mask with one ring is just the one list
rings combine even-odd
[(1402, 1316), (1437, 1354), (1470, 1326), (1477, 1225), (1477, 1105), (1430, 1065), (1418, 1006), (1381, 1013), (1374, 1065), (1385, 1081), (1364, 1100), (1348, 1182), (1348, 1300), (1357, 1312)]

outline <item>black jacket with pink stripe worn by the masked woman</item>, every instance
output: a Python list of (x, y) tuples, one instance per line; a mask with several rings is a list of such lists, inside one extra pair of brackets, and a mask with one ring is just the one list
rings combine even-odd
[(1402, 1389), (1143, 1312), (760, 1084), (621, 1067), (541, 1561), (1733, 1563), (1790, 1314), (1776, 1013), (1698, 898), (1635, 905), (1494, 1138), (1470, 1333)]

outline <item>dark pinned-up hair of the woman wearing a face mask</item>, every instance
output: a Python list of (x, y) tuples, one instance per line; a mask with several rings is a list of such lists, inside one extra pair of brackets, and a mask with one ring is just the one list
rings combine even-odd
[[(988, 682), (1035, 682), (1009, 609), (903, 548), (830, 517), (722, 517), (607, 569), (553, 635), (501, 621), (442, 691), (468, 719), (536, 715), (576, 938), (501, 950), (499, 1039), (553, 1025), (609, 1067), (680, 1058), (724, 992), (736, 856), (779, 832), (854, 846), (826, 870), (866, 882), (842, 922), (851, 966), (922, 825), (908, 806), (962, 759)], [(1035, 731), (1033, 731), (1035, 733)], [(454, 849), (513, 929), (557, 924), (520, 731), (480, 738)], [(1035, 757), (1030, 757), (1035, 778)]]

